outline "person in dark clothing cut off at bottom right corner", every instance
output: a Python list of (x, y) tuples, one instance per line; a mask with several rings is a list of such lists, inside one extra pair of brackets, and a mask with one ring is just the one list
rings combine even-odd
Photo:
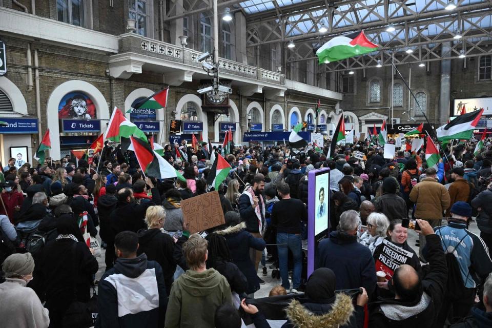
[(471, 309), (470, 316), (452, 325), (450, 328), (492, 327), (492, 273), (488, 275), (483, 284), (482, 300), (485, 311), (476, 306)]

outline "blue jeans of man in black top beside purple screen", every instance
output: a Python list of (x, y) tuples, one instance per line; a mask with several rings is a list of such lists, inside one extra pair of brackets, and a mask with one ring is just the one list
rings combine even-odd
[(282, 286), (286, 290), (289, 290), (291, 288), (289, 282), (289, 267), (287, 263), (289, 258), (289, 250), (291, 250), (292, 255), (294, 257), (292, 288), (298, 289), (301, 285), (301, 272), (302, 272), (301, 235), (277, 232), (277, 243), (286, 244), (286, 245), (277, 245), (280, 276), (282, 277)]

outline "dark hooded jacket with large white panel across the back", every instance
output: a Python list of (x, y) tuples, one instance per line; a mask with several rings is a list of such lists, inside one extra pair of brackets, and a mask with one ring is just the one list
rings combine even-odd
[(118, 258), (98, 286), (97, 328), (163, 327), (168, 306), (162, 268), (147, 255)]

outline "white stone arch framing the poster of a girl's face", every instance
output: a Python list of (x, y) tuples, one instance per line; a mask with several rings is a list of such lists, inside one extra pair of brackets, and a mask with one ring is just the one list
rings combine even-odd
[[(48, 98), (47, 110), (47, 124), (50, 129), (51, 136), (51, 150), (50, 156), (53, 159), (60, 159), (60, 129), (58, 125), (58, 105), (61, 98), (63, 98), (69, 92), (82, 92), (87, 94), (96, 107), (96, 117), (101, 121), (101, 131), (106, 131), (106, 123), (109, 121), (109, 108), (108, 103), (104, 95), (92, 84), (82, 80), (70, 80), (60, 84), (53, 90)], [(44, 131), (43, 131), (44, 133)]]

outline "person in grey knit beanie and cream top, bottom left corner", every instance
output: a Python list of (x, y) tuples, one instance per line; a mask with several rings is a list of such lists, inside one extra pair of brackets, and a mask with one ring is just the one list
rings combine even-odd
[(32, 289), (26, 288), (34, 271), (31, 253), (10, 255), (2, 264), (2, 271), (5, 277), (5, 282), (0, 284), (2, 327), (48, 327), (48, 309)]

